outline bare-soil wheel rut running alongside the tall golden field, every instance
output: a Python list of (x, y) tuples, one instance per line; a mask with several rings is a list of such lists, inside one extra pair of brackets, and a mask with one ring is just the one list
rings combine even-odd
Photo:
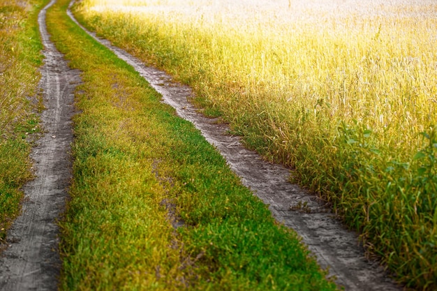
[[(68, 15), (82, 27), (70, 11)], [(173, 82), (162, 70), (145, 66), (108, 40), (96, 37), (95, 33), (87, 33), (133, 66), (162, 94), (164, 103), (175, 107), (179, 117), (191, 121), (201, 131), (225, 157), (242, 183), (269, 205), (274, 218), (302, 237), (320, 266), (329, 268), (329, 276), (335, 276), (339, 286), (345, 290), (402, 290), (378, 262), (366, 259), (357, 233), (347, 230), (316, 195), (290, 183), (290, 170), (262, 160), (254, 151), (245, 149), (239, 137), (228, 135), (228, 126), (200, 114), (189, 102), (193, 98), (189, 87)]]

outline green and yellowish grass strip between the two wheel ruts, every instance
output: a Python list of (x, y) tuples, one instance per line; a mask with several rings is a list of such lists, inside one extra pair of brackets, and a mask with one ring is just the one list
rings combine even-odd
[(68, 2), (47, 11), (83, 81), (61, 290), (336, 290), (200, 132), (69, 19)]

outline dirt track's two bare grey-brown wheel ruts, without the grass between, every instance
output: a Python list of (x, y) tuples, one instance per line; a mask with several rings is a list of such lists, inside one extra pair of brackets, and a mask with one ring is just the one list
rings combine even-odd
[[(80, 78), (79, 72), (69, 69), (62, 55), (50, 43), (45, 28), (45, 10), (54, 1), (41, 10), (38, 17), (46, 58), (40, 83), (47, 108), (42, 114), (46, 133), (31, 154), (37, 178), (24, 187), (27, 198), (23, 215), (17, 218), (8, 233), (10, 246), (0, 259), (1, 290), (57, 289), (61, 262), (54, 221), (64, 209), (71, 179), (68, 151), (73, 140), (73, 90)], [(69, 15), (73, 18), (71, 13)], [(346, 230), (332, 214), (327, 213), (316, 197), (288, 182), (288, 169), (262, 161), (253, 151), (242, 147), (239, 137), (226, 135), (228, 128), (225, 125), (198, 114), (187, 101), (192, 96), (191, 89), (175, 84), (163, 71), (144, 66), (108, 41), (96, 39), (138, 70), (163, 95), (165, 103), (175, 107), (180, 117), (202, 131), (205, 138), (221, 151), (244, 185), (269, 204), (274, 217), (302, 236), (322, 267), (329, 266), (330, 275), (337, 277), (339, 285), (345, 286), (346, 290), (401, 290), (378, 264), (364, 258), (355, 233)], [(298, 202), (307, 203), (305, 211), (290, 210), (290, 206)]]

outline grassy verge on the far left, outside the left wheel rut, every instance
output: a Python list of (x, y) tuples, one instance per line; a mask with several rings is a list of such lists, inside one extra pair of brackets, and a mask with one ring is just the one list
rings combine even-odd
[(31, 137), (40, 132), (42, 45), (39, 8), (47, 1), (0, 2), (0, 244), (20, 213), (20, 187), (31, 179)]

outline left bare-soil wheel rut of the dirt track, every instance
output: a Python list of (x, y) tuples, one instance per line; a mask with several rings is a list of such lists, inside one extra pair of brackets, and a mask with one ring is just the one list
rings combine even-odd
[(41, 114), (45, 133), (31, 152), (36, 179), (24, 188), (22, 215), (8, 232), (8, 248), (0, 258), (0, 290), (57, 290), (61, 267), (57, 219), (64, 211), (71, 181), (70, 144), (73, 141), (71, 117), (73, 90), (80, 82), (79, 72), (68, 68), (49, 40), (45, 11), (38, 15), (44, 44), (45, 64), (40, 88), (45, 111)]

